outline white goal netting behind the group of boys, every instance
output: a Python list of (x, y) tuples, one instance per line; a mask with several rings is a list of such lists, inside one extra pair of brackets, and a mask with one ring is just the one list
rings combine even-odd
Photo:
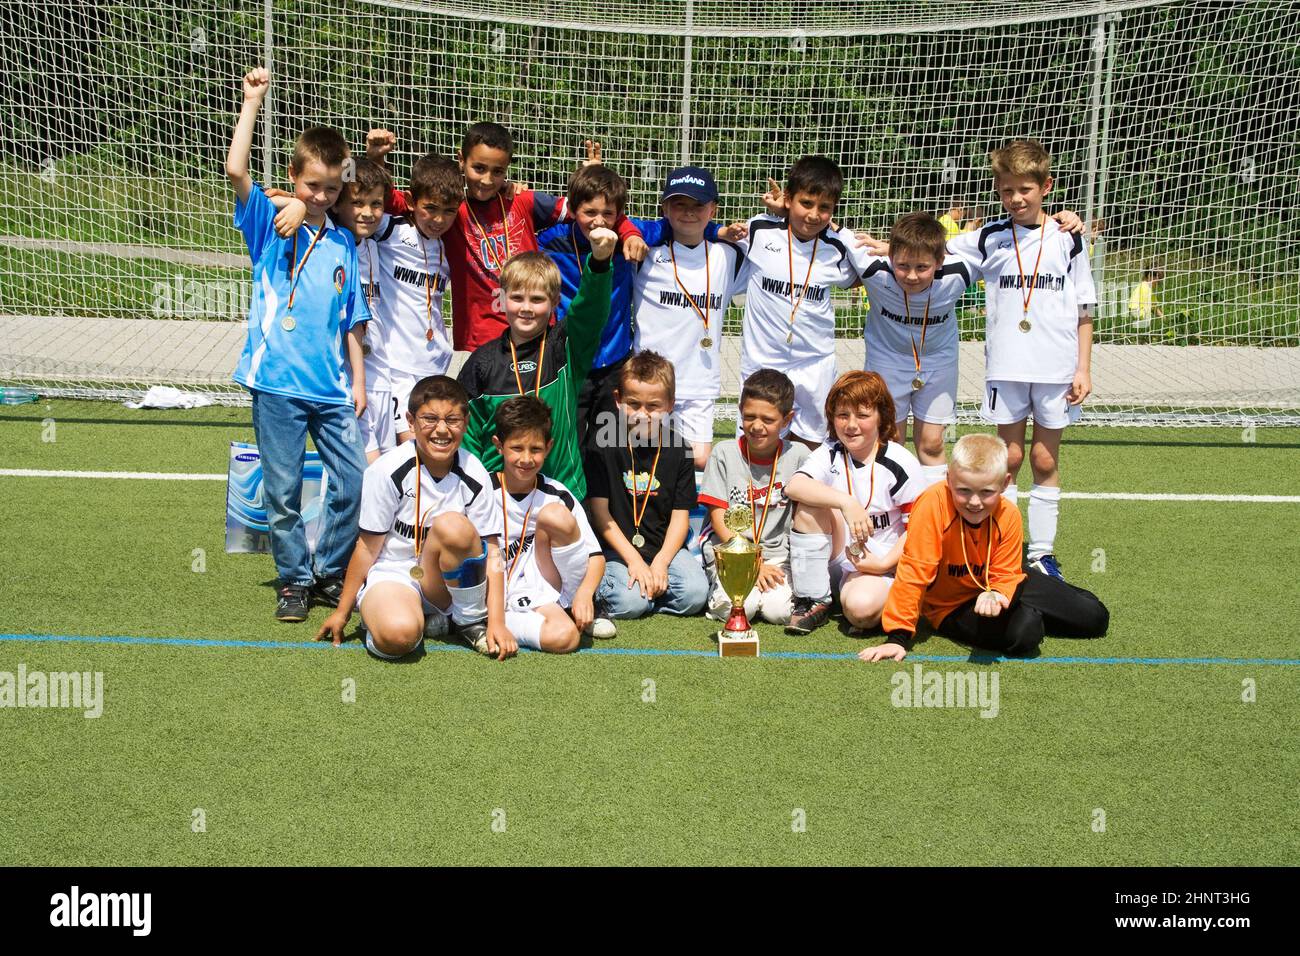
[[(1102, 226), (1093, 408), (1300, 420), (1300, 278), (1274, 265), (1300, 174), (1300, 4), (880, 9), (282, 0), (268, 38), (261, 3), (6, 3), (0, 381), (79, 394), (164, 382), (238, 401), (247, 269), (222, 161), (239, 75), (269, 39), (272, 135), (254, 168), (276, 185), (309, 124), (358, 146), (389, 126), (404, 173), (493, 118), (515, 133), (516, 176), (549, 191), (581, 140), (601, 139), (634, 215), (654, 215), (682, 157), (715, 170), (731, 220), (755, 211), (768, 176), (823, 152), (849, 181), (837, 219), (883, 233), (910, 209), (996, 215), (987, 151), (1035, 135), (1054, 157), (1057, 206)], [(1153, 264), (1164, 315), (1131, 316)], [(848, 367), (863, 312), (852, 294), (838, 304)], [(972, 297), (967, 408), (980, 324)]]

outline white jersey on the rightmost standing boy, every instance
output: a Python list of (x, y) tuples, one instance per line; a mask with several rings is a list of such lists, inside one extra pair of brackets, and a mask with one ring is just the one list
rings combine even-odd
[[(984, 271), (984, 377), (1070, 382), (1079, 367), (1079, 307), (1097, 302), (1083, 237), (1062, 232), (1052, 219), (1041, 229), (1014, 226), (1014, 242), (1011, 229), (1004, 219), (948, 241), (949, 250)], [(1024, 319), (1028, 332), (1020, 329)]]

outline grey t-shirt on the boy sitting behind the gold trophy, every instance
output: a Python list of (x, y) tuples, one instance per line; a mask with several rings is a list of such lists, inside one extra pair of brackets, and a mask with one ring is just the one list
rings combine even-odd
[[(705, 466), (705, 480), (699, 489), (699, 503), (707, 507), (729, 507), (749, 505), (754, 509), (754, 522), (763, 520), (763, 501), (767, 486), (772, 481), (771, 459), (745, 460), (746, 449), (741, 438), (728, 438), (714, 445)], [(798, 442), (783, 441), (781, 454), (776, 463), (776, 484), (772, 488), (767, 507), (767, 523), (763, 524), (763, 563), (786, 564), (790, 558), (790, 523), (794, 520), (794, 505), (785, 497), (785, 485), (800, 470), (809, 450)], [(745, 537), (753, 538), (754, 532), (746, 529)], [(708, 519), (705, 519), (702, 549), (705, 564), (714, 563), (714, 532)]]

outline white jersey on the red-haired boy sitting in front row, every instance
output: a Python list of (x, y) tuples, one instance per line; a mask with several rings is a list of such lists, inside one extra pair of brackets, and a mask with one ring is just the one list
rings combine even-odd
[(827, 441), (803, 460), (796, 473), (807, 475), (837, 492), (848, 492), (848, 462), (852, 462), (853, 497), (871, 518), (867, 546), (874, 554), (887, 554), (906, 529), (913, 502), (926, 490), (920, 462), (902, 445), (890, 441), (876, 451), (868, 468), (866, 463), (850, 458), (840, 442)]

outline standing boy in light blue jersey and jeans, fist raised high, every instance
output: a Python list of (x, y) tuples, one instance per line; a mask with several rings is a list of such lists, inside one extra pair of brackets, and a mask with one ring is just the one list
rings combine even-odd
[[(300, 622), (311, 600), (338, 604), (356, 542), (365, 470), (356, 419), (365, 410), (361, 330), (369, 311), (352, 234), (328, 215), (343, 189), (348, 152), (342, 135), (313, 127), (299, 137), (289, 177), (307, 206), (307, 222), (290, 238), (276, 233), (276, 207), (248, 174), (269, 83), (263, 68), (244, 75), (243, 108), (226, 156), (234, 225), (248, 246), (254, 284), (248, 339), (234, 380), (252, 393), (270, 553), (280, 574), (276, 618)], [(300, 514), (308, 434), (330, 479), (315, 570)]]

